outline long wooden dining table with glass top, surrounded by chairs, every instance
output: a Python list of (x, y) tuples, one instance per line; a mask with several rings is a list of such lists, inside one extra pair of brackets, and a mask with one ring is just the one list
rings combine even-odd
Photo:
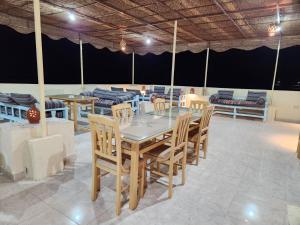
[[(161, 112), (139, 113), (120, 121), (122, 141), (130, 143), (128, 154), (131, 156), (129, 208), (138, 205), (138, 168), (140, 155), (151, 151), (171, 139), (170, 133), (176, 124), (176, 117), (191, 112), (188, 108), (173, 107)], [(192, 122), (199, 120), (201, 112), (192, 111)], [(158, 138), (166, 136), (166, 138)], [(152, 142), (151, 140), (157, 140)], [(147, 144), (151, 143), (151, 144)]]

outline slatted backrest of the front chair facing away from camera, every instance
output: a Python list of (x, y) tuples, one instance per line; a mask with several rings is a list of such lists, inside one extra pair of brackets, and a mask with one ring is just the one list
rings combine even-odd
[(106, 116), (89, 114), (92, 135), (93, 159), (101, 158), (122, 165), (121, 135), (116, 120)]

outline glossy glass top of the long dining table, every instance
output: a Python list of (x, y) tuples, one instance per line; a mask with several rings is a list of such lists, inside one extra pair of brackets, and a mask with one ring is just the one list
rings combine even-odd
[[(123, 139), (133, 142), (143, 142), (158, 134), (171, 131), (175, 127), (176, 117), (190, 112), (187, 108), (173, 107), (172, 110), (136, 114), (120, 121), (120, 132)], [(192, 121), (198, 120), (201, 112), (192, 112)]]

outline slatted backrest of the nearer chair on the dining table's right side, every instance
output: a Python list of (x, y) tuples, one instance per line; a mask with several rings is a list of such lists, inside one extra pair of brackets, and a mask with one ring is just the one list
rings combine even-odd
[(189, 125), (191, 122), (192, 113), (185, 113), (177, 116), (176, 126), (172, 134), (172, 148), (174, 150), (180, 149), (187, 144)]

